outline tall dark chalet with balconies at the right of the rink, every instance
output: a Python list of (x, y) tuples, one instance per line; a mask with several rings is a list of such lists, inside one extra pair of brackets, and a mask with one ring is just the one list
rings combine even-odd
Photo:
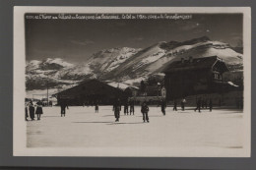
[(224, 61), (218, 56), (174, 61), (162, 71), (166, 99), (228, 91), (235, 85), (224, 82), (223, 74), (227, 71)]

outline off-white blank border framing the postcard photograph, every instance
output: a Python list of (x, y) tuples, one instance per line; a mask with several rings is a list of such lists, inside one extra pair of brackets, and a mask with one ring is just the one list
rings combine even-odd
[[(25, 14), (26, 13), (243, 13), (244, 44), (244, 147), (233, 157), (251, 155), (251, 9), (250, 7), (14, 7), (14, 85), (13, 85), (13, 154), (14, 156), (160, 156), (160, 157), (230, 157), (218, 148), (100, 148), (100, 147), (27, 147), (24, 121), (25, 86)], [(204, 150), (204, 151), (202, 151)], [(208, 152), (209, 154), (206, 154)], [(232, 157), (232, 156), (231, 156)]]

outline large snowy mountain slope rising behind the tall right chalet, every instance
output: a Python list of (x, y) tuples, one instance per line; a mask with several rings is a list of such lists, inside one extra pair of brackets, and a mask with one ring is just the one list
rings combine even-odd
[(181, 58), (209, 57), (217, 55), (228, 66), (242, 67), (242, 54), (235, 52), (227, 43), (211, 41), (208, 37), (196, 38), (184, 42), (160, 42), (139, 51), (120, 64), (119, 67), (105, 75), (104, 79), (127, 81), (140, 77), (148, 77), (160, 73), (171, 62)]

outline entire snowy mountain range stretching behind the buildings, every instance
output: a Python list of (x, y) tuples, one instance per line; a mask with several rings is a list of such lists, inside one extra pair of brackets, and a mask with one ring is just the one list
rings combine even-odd
[(151, 75), (158, 75), (171, 62), (217, 55), (224, 60), (231, 72), (241, 71), (243, 55), (235, 52), (227, 43), (203, 36), (184, 42), (159, 42), (145, 49), (111, 48), (96, 52), (81, 64), (71, 64), (63, 59), (48, 58), (27, 62), (27, 89), (45, 89), (77, 85), (86, 79), (138, 85)]

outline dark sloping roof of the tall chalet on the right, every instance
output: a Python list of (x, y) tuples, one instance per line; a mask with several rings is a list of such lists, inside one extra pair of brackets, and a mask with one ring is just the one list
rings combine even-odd
[(224, 62), (218, 56), (211, 56), (203, 58), (193, 58), (192, 62), (190, 62), (189, 60), (184, 60), (183, 62), (181, 60), (174, 61), (169, 64), (168, 67), (162, 71), (162, 73), (210, 69), (215, 65), (220, 67), (222, 72), (228, 71)]

